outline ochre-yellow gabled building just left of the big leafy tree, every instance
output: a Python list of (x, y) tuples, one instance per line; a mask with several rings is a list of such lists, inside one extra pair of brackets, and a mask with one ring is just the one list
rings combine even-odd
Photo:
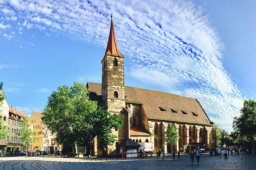
[[(61, 147), (57, 144), (54, 144), (54, 137), (51, 135), (50, 131), (45, 128), (44, 124), (42, 123), (42, 117), (43, 116), (41, 112), (33, 111), (32, 115), (29, 118), (30, 122), (33, 125), (33, 130), (36, 132), (36, 142), (33, 143), (32, 150), (41, 150), (53, 154), (54, 151), (60, 151)], [(47, 133), (48, 140), (45, 135), (42, 135), (42, 130), (43, 134)]]

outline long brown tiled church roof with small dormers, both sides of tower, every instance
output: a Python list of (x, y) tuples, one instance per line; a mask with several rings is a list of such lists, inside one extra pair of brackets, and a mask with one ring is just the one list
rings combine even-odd
[[(87, 87), (96, 93), (95, 100), (102, 100), (101, 83), (89, 82)], [(212, 125), (197, 99), (131, 86), (125, 86), (125, 96), (126, 103), (143, 104), (148, 119)]]

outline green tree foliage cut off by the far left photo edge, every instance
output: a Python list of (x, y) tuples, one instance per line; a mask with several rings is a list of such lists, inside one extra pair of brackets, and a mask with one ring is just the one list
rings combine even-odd
[[(4, 92), (2, 92), (2, 87), (3, 87), (4, 83), (0, 82), (0, 106), (2, 106), (4, 103), (4, 99), (6, 98), (4, 95)], [(4, 121), (2, 120), (2, 111), (0, 110), (0, 140), (6, 139), (7, 137), (7, 125), (4, 124)]]

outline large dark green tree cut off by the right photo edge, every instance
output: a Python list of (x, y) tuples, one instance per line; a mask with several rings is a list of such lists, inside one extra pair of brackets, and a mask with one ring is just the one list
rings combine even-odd
[(244, 107), (240, 110), (241, 115), (234, 117), (233, 128), (241, 138), (249, 139), (254, 147), (256, 137), (256, 101), (244, 100)]

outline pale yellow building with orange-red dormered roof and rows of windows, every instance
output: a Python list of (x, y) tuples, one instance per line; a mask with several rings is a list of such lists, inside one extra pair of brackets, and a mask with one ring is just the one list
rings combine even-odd
[[(23, 151), (26, 152), (26, 147), (23, 146), (22, 141), (20, 140), (20, 136), (18, 136), (18, 133), (20, 129), (23, 127), (21, 126), (20, 120), (22, 120), (22, 117), (27, 116), (25, 113), (20, 112), (19, 110), (9, 107), (9, 118), (8, 118), (8, 134), (7, 134), (7, 154), (14, 154), (15, 152)], [(28, 122), (30, 124), (30, 128), (33, 129), (31, 122)], [(31, 148), (32, 143), (28, 143), (28, 150)]]

